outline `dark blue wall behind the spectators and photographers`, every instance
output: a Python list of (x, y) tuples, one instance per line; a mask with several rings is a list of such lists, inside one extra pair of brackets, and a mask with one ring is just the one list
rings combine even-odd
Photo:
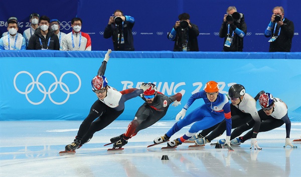
[(116, 9), (135, 18), (134, 46), (138, 51), (173, 50), (174, 42), (168, 40), (178, 20), (178, 15), (187, 12), (191, 22), (199, 26), (200, 51), (221, 51), (223, 39), (218, 36), (224, 14), (228, 6), (235, 5), (245, 14), (247, 36), (243, 51), (268, 51), (269, 42), (263, 33), (267, 27), (272, 9), (284, 7), (284, 16), (294, 22), (295, 34), (291, 51), (301, 51), (301, 20), (299, 11), (301, 0), (60, 0), (41, 6), (41, 0), (2, 0), (0, 6), (0, 33), (7, 31), (6, 20), (17, 16), (21, 21), (20, 31), (29, 26), (29, 15), (38, 12), (50, 18), (58, 18), (62, 31), (70, 32), (70, 20), (74, 16), (83, 19), (82, 31), (90, 34), (92, 50), (113, 48), (112, 40), (103, 38), (103, 30), (109, 16)]

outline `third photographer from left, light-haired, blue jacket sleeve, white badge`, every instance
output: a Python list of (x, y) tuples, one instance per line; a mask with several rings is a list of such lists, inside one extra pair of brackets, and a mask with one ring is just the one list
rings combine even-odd
[(242, 51), (243, 37), (246, 33), (244, 15), (238, 13), (235, 6), (229, 6), (219, 31), (219, 36), (225, 38), (223, 51)]

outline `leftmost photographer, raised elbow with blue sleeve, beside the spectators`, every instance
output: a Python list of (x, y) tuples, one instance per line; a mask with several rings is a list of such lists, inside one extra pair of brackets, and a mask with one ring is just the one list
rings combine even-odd
[(115, 10), (113, 16), (110, 16), (109, 23), (103, 32), (104, 38), (112, 36), (114, 50), (133, 51), (134, 41), (132, 28), (135, 19), (131, 16), (124, 16), (121, 10)]

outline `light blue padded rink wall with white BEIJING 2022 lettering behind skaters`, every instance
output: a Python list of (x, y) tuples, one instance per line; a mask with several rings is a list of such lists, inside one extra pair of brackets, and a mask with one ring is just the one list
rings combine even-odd
[[(106, 51), (1, 51), (0, 120), (82, 120), (97, 99), (91, 79)], [(182, 92), (182, 105), (170, 106), (163, 120), (177, 113), (204, 84), (215, 80), (220, 92), (234, 83), (255, 96), (272, 93), (288, 106), (291, 121), (301, 121), (301, 52), (112, 51), (105, 76), (118, 90), (153, 82), (166, 95)], [(125, 103), (119, 120), (133, 119), (143, 103)], [(204, 101), (196, 100), (188, 112)], [(257, 102), (257, 108), (260, 106)]]

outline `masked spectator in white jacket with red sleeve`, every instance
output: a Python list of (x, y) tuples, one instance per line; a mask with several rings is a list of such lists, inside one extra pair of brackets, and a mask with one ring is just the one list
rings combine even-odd
[(63, 50), (91, 51), (91, 38), (89, 34), (81, 31), (82, 23), (78, 17), (71, 20), (73, 29), (63, 38)]

